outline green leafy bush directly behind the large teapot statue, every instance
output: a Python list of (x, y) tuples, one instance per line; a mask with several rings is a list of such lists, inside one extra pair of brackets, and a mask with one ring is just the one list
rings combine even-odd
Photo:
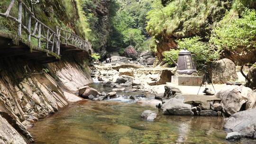
[(171, 49), (163, 54), (164, 60), (169, 64), (173, 64), (171, 58), (177, 61), (178, 53), (182, 49), (187, 49), (192, 54), (195, 54), (198, 65), (211, 63), (219, 58), (219, 51), (215, 51), (208, 43), (202, 42), (199, 36), (183, 38), (178, 40), (177, 43), (177, 50)]

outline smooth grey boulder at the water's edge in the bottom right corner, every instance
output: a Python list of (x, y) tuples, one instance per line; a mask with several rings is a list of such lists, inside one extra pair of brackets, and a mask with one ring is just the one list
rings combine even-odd
[(229, 117), (224, 128), (242, 136), (256, 138), (256, 108), (240, 111)]

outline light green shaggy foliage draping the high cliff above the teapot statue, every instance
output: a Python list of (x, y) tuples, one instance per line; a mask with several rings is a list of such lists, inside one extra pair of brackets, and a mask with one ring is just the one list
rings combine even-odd
[(210, 23), (219, 21), (225, 14), (222, 0), (171, 0), (164, 7), (154, 0), (147, 14), (146, 30), (151, 36), (163, 37), (206, 35)]

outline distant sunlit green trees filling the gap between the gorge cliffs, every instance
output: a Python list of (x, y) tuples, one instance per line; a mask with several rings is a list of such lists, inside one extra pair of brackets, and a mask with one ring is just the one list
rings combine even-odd
[[(112, 18), (112, 33), (109, 47), (119, 48), (133, 45), (137, 50), (146, 40), (146, 13), (151, 9), (153, 0), (119, 0), (119, 10)], [(142, 48), (143, 47), (143, 48)]]

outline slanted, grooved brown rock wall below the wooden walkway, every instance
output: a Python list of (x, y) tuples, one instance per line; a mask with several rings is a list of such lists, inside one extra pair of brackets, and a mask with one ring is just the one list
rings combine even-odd
[(32, 142), (27, 128), (70, 102), (81, 100), (76, 91), (92, 82), (90, 71), (73, 56), (49, 64), (0, 59), (0, 144)]

